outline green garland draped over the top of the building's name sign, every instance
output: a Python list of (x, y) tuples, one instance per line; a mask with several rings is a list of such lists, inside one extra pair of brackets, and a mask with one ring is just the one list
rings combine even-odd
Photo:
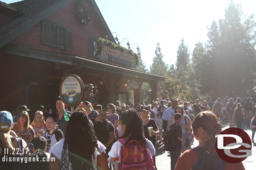
[(127, 48), (124, 48), (123, 46), (117, 45), (115, 43), (112, 43), (111, 41), (105, 40), (104, 38), (99, 38), (97, 40), (97, 48), (95, 51), (95, 56), (98, 56), (101, 54), (102, 49), (103, 49), (103, 44), (106, 44), (107, 46), (113, 47), (113, 48), (118, 48), (120, 51), (125, 51), (126, 53), (130, 53), (135, 59), (136, 65), (138, 65), (138, 55), (134, 53), (132, 50), (129, 50)]

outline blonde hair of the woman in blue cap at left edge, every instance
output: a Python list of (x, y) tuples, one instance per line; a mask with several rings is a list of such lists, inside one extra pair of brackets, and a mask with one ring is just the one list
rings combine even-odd
[[(0, 123), (0, 126), (7, 126), (7, 123)], [(13, 145), (10, 139), (10, 135), (7, 133), (10, 131), (11, 127), (0, 128), (0, 146), (3, 148), (7, 148), (10, 153), (13, 152)], [(3, 151), (2, 151), (3, 152)]]

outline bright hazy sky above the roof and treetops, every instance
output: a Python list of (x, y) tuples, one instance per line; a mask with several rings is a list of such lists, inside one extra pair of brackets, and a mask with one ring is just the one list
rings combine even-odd
[[(1, 0), (13, 3), (19, 0)], [(146, 68), (153, 62), (157, 43), (163, 60), (174, 64), (181, 39), (188, 45), (190, 56), (197, 42), (207, 42), (207, 25), (224, 18), (230, 0), (95, 0), (112, 35), (120, 42), (128, 38)], [(244, 16), (256, 14), (256, 0), (233, 0), (240, 4)], [(115, 32), (115, 33), (113, 33)], [(120, 45), (128, 48), (127, 39)], [(191, 56), (192, 57), (192, 56)]]

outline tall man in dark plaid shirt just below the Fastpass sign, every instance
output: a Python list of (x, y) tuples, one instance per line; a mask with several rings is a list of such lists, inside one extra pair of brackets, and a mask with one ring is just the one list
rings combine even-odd
[(59, 129), (63, 132), (64, 137), (66, 135), (66, 130), (67, 130), (67, 125), (68, 125), (68, 120), (65, 118), (65, 115), (67, 115), (67, 118), (71, 116), (71, 112), (68, 110), (65, 110), (65, 104), (63, 101), (60, 99), (60, 96), (57, 97), (56, 99), (56, 109), (57, 109), (57, 125), (59, 126)]

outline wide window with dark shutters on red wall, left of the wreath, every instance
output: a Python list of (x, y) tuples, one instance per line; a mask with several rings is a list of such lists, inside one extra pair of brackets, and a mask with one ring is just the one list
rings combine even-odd
[(63, 50), (73, 50), (73, 33), (60, 25), (42, 21), (42, 43)]

